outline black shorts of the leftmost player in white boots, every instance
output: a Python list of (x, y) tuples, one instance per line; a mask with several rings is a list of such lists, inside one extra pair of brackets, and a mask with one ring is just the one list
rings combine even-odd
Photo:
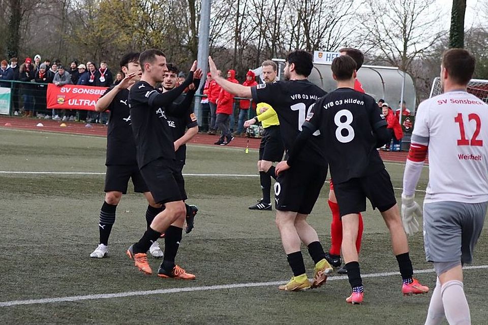
[(142, 178), (139, 167), (136, 165), (109, 165), (105, 173), (105, 192), (122, 192), (127, 194), (129, 179), (134, 184), (134, 192), (144, 193), (149, 191), (146, 182)]

